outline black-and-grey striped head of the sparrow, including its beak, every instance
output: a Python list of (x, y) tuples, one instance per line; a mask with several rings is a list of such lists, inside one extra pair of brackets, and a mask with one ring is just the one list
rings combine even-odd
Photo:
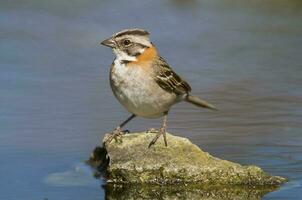
[(149, 33), (143, 29), (122, 30), (101, 44), (112, 48), (117, 60), (126, 62), (137, 61), (137, 57), (153, 46)]

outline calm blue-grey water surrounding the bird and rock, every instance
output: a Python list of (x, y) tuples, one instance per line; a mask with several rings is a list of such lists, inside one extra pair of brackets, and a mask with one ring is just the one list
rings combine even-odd
[(301, 199), (301, 20), (299, 0), (2, 0), (0, 199), (104, 198), (82, 163), (128, 113), (110, 91), (113, 55), (98, 42), (128, 27), (151, 32), (193, 93), (220, 109), (178, 104), (170, 132), (289, 178), (263, 199)]

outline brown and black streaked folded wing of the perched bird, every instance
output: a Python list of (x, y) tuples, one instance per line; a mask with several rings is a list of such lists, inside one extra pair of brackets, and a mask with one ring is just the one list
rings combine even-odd
[(178, 95), (187, 94), (191, 91), (190, 85), (178, 76), (160, 57), (155, 64), (155, 81), (164, 90)]

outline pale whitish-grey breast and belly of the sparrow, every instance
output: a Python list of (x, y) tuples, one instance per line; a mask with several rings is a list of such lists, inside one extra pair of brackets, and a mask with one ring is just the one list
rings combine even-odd
[(159, 117), (177, 102), (177, 96), (159, 87), (152, 71), (141, 66), (115, 61), (111, 67), (110, 85), (119, 102), (138, 116)]

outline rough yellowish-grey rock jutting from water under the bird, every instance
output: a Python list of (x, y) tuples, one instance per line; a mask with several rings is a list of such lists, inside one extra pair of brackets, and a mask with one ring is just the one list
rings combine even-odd
[(188, 139), (171, 134), (167, 134), (168, 147), (161, 137), (148, 148), (154, 136), (144, 132), (126, 134), (122, 142), (113, 140), (96, 148), (88, 163), (114, 184), (275, 187), (286, 182), (259, 167), (215, 158)]

